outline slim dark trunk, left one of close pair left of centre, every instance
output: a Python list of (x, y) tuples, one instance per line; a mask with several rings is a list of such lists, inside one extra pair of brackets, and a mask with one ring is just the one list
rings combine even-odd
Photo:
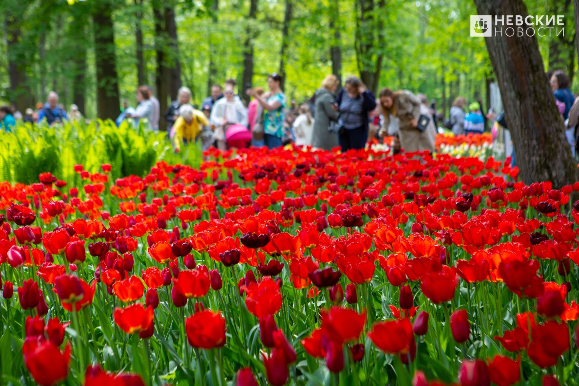
[(159, 128), (166, 130), (167, 123), (164, 120), (164, 112), (167, 109), (168, 78), (170, 70), (167, 68), (165, 56), (166, 32), (164, 28), (164, 6), (162, 1), (153, 3), (153, 16), (155, 19), (155, 51), (157, 56), (157, 68), (155, 71), (155, 86), (157, 99), (159, 100)]

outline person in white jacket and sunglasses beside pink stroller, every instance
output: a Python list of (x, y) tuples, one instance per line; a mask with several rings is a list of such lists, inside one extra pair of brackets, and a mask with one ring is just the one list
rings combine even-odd
[(233, 92), (233, 86), (225, 86), (225, 97), (219, 99), (211, 109), (210, 123), (215, 127), (213, 138), (219, 150), (226, 150), (225, 131), (232, 124), (247, 126), (247, 108)]

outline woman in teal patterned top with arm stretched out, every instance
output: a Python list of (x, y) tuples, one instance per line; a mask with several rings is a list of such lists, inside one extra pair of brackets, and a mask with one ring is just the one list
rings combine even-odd
[(279, 148), (283, 145), (281, 138), (284, 136), (284, 109), (287, 98), (280, 87), (281, 76), (277, 73), (267, 77), (269, 93), (259, 95), (255, 89), (245, 91), (247, 95), (254, 97), (263, 108), (263, 142), (269, 149)]

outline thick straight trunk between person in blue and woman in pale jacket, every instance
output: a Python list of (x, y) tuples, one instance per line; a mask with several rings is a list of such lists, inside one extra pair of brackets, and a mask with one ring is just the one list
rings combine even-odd
[(94, 53), (97, 72), (97, 116), (116, 119), (119, 115), (119, 80), (116, 72), (115, 31), (110, 4), (93, 13)]

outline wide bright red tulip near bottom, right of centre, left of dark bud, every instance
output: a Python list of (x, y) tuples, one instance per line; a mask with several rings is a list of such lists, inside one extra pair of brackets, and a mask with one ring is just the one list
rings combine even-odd
[(414, 340), (412, 325), (408, 319), (378, 322), (368, 337), (380, 350), (390, 354), (406, 354)]

